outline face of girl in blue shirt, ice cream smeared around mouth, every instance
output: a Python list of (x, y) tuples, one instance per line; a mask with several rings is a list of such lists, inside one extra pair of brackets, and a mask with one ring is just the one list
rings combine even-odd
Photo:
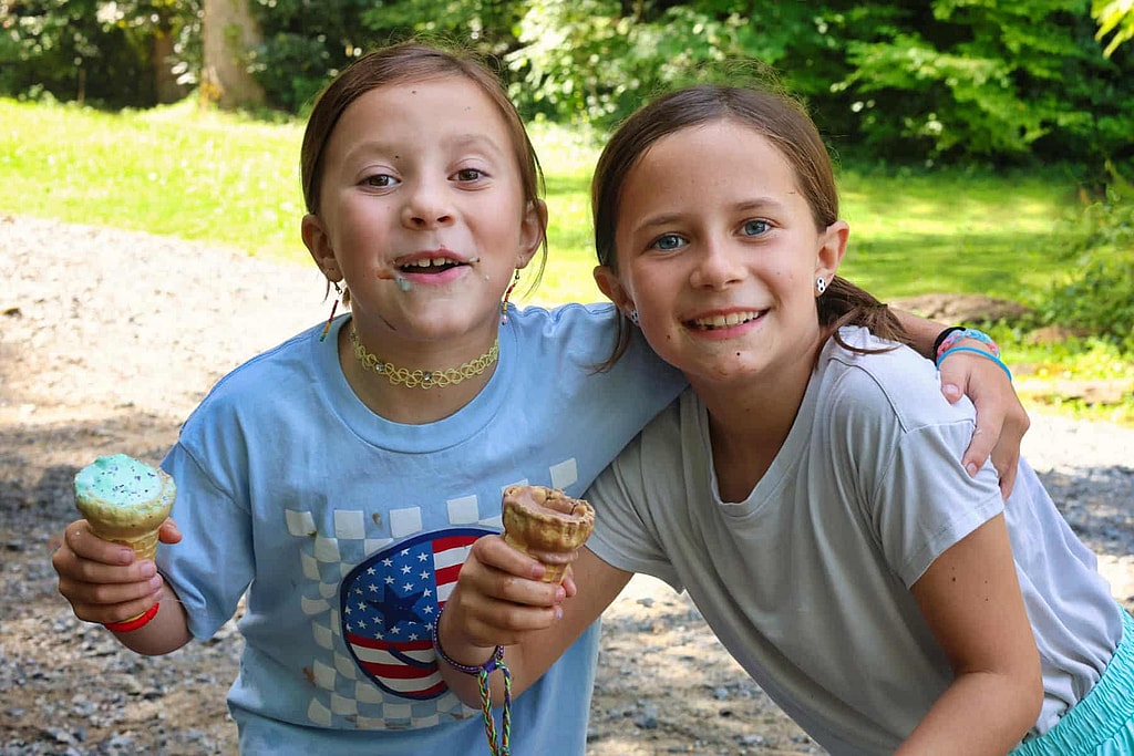
[(364, 342), (494, 335), (513, 271), (543, 236), (516, 152), (497, 104), (460, 76), (381, 86), (346, 108), (303, 233), (346, 281)]

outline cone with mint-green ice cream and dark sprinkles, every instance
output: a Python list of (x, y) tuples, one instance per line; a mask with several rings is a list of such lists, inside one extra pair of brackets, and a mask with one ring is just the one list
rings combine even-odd
[(103, 541), (134, 549), (138, 559), (158, 552), (158, 529), (169, 517), (177, 486), (164, 470), (126, 455), (99, 457), (75, 476), (75, 506)]

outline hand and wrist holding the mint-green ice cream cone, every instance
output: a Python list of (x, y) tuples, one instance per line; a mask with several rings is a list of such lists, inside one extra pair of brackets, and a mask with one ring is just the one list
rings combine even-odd
[[(170, 519), (162, 524), (160, 536), (162, 543), (181, 540)], [(67, 526), (51, 566), (59, 575), (59, 593), (70, 602), (75, 617), (86, 622), (121, 622), (161, 602), (158, 614), (144, 627), (115, 634), (130, 651), (156, 656), (192, 639), (185, 609), (156, 566), (135, 559), (128, 546), (94, 536), (86, 520)]]

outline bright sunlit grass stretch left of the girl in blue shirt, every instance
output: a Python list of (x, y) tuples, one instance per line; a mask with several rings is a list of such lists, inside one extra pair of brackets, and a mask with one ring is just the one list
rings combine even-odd
[(305, 257), (301, 127), (0, 101), (0, 209)]

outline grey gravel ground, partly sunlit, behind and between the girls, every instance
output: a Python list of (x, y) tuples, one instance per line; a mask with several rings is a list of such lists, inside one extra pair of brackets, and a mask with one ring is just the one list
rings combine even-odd
[[(0, 754), (231, 754), (240, 638), (122, 651), (56, 592), (75, 472), (158, 461), (212, 383), (327, 315), (313, 265), (0, 216)], [(1134, 609), (1134, 430), (1033, 415), (1025, 455)], [(592, 756), (822, 753), (684, 595), (635, 578), (604, 618)]]

